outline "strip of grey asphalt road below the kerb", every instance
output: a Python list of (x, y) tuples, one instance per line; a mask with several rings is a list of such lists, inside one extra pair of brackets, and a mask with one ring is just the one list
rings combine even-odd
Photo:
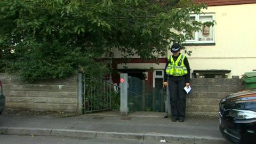
[[(31, 137), (22, 135), (1, 135), (0, 134), (0, 144), (153, 144), (156, 142), (145, 142), (137, 140), (126, 140), (126, 139), (76, 139), (76, 138), (63, 138), (63, 137)], [(163, 142), (157, 142), (163, 143)], [(185, 144), (177, 142), (168, 142), (171, 144)]]

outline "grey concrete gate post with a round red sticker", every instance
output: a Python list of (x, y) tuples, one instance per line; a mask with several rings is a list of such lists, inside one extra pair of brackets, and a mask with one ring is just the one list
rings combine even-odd
[(128, 74), (120, 75), (120, 113), (128, 115)]

